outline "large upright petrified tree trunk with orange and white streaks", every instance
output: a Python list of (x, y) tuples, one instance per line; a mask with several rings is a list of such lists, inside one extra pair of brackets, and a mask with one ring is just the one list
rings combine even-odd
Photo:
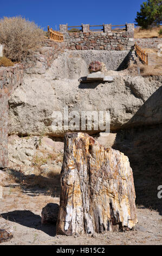
[(86, 133), (66, 133), (57, 234), (129, 230), (137, 223), (128, 157)]

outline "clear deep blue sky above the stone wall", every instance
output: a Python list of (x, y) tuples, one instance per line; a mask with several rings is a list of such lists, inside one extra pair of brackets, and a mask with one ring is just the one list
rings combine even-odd
[[(146, 0), (145, 0), (146, 1)], [(78, 26), (89, 23), (121, 25), (134, 23), (144, 0), (1, 0), (0, 17), (21, 15), (47, 30), (49, 25), (59, 30), (59, 24)]]

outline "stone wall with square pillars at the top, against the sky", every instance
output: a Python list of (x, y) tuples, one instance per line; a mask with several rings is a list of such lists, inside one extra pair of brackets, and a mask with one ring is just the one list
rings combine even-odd
[(115, 31), (111, 25), (103, 27), (103, 32), (92, 32), (89, 25), (82, 25), (81, 32), (68, 32), (67, 25), (60, 25), (64, 41), (69, 50), (131, 50), (134, 46), (134, 24), (127, 24), (127, 31)]

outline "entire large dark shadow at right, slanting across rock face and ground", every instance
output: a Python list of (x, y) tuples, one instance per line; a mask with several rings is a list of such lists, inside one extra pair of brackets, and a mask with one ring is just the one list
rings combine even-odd
[[(129, 158), (133, 169), (136, 204), (157, 210), (162, 215), (162, 202), (158, 198), (158, 186), (162, 185), (161, 123), (162, 87), (145, 101), (124, 126), (124, 130), (116, 131), (113, 148)], [(126, 129), (127, 125), (129, 129)]]

